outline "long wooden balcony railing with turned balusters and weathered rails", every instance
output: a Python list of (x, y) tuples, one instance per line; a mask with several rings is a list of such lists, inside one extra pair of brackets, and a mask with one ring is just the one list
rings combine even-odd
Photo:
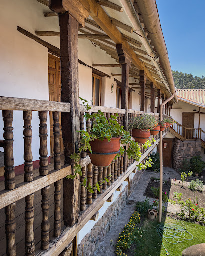
[[(3, 110), (3, 146), (5, 157), (5, 184), (4, 188), (0, 191), (0, 218), (3, 219), (3, 214), (5, 214), (6, 219), (5, 225), (3, 224), (4, 221), (0, 222), (0, 232), (2, 234), (5, 233), (0, 240), (0, 250), (2, 254), (5, 254), (7, 247), (7, 255), (10, 256), (22, 255), (24, 251), (25, 255), (39, 256), (52, 255), (52, 253), (56, 254), (56, 251), (59, 252), (63, 244), (68, 245), (69, 242), (73, 240), (87, 221), (100, 209), (103, 203), (107, 200), (109, 201), (112, 193), (116, 189), (119, 189), (122, 182), (127, 180), (130, 174), (136, 169), (136, 162), (130, 159), (127, 161), (127, 166), (124, 166), (124, 157), (126, 156), (122, 155), (116, 160), (113, 160), (107, 167), (93, 166), (90, 158), (83, 152), (80, 162), (82, 166), (82, 176), (80, 177), (82, 182), (86, 177), (87, 182), (94, 185), (108, 174), (111, 174), (111, 177), (108, 178), (108, 182), (100, 184), (99, 192), (95, 190), (92, 194), (83, 186), (79, 188), (79, 219), (74, 226), (66, 227), (63, 225), (62, 221), (63, 205), (61, 198), (62, 196), (68, 195), (62, 195), (62, 193), (64, 193), (62, 179), (71, 174), (71, 166), (61, 166), (59, 120), (60, 112), (70, 112), (70, 104), (44, 100), (0, 97), (0, 110)], [(118, 113), (119, 124), (123, 123), (126, 114), (124, 109), (101, 106), (92, 106), (90, 111), (97, 112), (98, 110), (101, 110), (107, 118), (109, 118), (110, 115)], [(12, 128), (13, 111), (23, 111), (24, 182), (23, 180), (16, 182), (15, 177)], [(33, 172), (31, 147), (32, 111), (38, 111), (39, 115), (39, 173)], [(85, 122), (84, 111), (84, 106), (80, 105), (80, 128), (84, 129), (86, 126), (89, 130), (92, 122), (91, 120)], [(48, 165), (48, 112), (52, 112), (54, 121), (53, 167)], [(131, 120), (132, 117), (140, 114), (143, 114), (143, 112), (129, 109), (128, 118)], [(155, 113), (154, 116), (159, 119), (159, 114)], [(165, 132), (167, 132), (167, 130), (165, 130), (164, 133)], [(145, 161), (151, 154), (153, 148), (158, 143), (158, 135), (155, 136), (155, 139), (157, 142), (151, 148), (142, 152), (143, 155), (140, 161)], [(19, 180), (20, 178), (18, 178), (18, 181)], [(15, 183), (17, 183), (17, 185)], [(25, 210), (24, 206), (22, 206), (23, 204), (25, 204)], [(42, 212), (40, 212), (40, 208)], [(3, 213), (3, 210), (5, 213)], [(25, 216), (25, 218), (22, 216)]]

